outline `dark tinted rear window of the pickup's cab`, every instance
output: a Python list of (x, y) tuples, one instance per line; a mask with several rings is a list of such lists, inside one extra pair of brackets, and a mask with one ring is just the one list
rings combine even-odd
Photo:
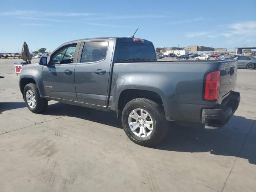
[(156, 52), (151, 44), (122, 42), (118, 61), (156, 61)]

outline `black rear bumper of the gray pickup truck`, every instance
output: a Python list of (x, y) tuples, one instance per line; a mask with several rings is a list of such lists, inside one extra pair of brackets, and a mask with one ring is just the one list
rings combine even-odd
[(240, 102), (240, 93), (232, 91), (216, 109), (202, 110), (202, 124), (206, 129), (218, 129), (227, 124)]

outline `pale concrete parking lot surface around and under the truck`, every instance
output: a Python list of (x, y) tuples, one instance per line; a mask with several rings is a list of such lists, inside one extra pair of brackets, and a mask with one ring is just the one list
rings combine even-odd
[(241, 102), (224, 128), (170, 123), (146, 148), (126, 137), (115, 112), (55, 101), (30, 112), (17, 61), (0, 60), (0, 192), (256, 191), (256, 70), (238, 69)]

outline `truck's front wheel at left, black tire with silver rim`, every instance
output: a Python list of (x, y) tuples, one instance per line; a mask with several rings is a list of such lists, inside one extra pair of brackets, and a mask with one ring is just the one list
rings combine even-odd
[(23, 97), (28, 109), (33, 113), (42, 113), (48, 106), (48, 101), (40, 97), (38, 89), (33, 83), (25, 86)]

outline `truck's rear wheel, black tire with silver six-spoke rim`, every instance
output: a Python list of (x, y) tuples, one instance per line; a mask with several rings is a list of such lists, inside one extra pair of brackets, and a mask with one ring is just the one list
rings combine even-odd
[(164, 109), (152, 100), (136, 98), (122, 112), (124, 132), (130, 140), (142, 146), (153, 146), (166, 135)]

